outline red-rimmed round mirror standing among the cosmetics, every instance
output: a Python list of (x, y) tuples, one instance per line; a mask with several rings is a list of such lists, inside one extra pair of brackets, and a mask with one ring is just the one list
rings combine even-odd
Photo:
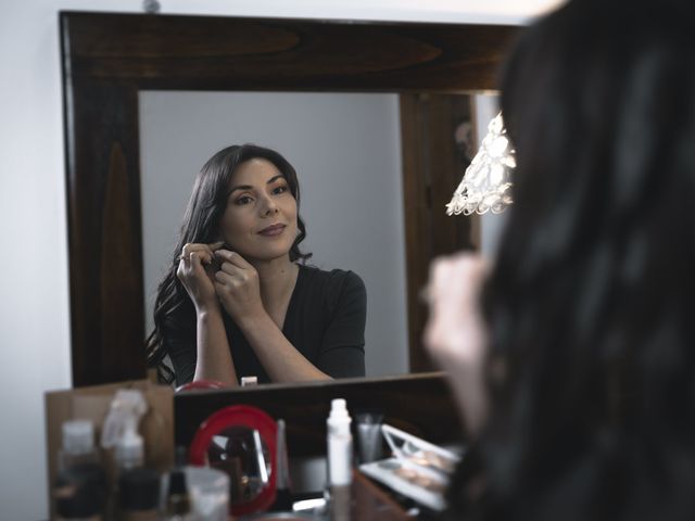
[(277, 424), (263, 410), (232, 405), (218, 410), (198, 429), (189, 461), (229, 475), (229, 508), (241, 516), (265, 510), (276, 493)]

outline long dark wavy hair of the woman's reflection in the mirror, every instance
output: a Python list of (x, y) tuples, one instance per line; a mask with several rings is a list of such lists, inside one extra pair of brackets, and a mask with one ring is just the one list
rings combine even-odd
[[(177, 319), (187, 319), (195, 323), (194, 309), (186, 289), (176, 277), (179, 255), (187, 243), (210, 244), (219, 240), (219, 221), (227, 207), (229, 182), (235, 170), (242, 163), (262, 158), (269, 161), (288, 182), (290, 193), (300, 206), (300, 185), (294, 167), (278, 152), (255, 144), (231, 145), (213, 155), (201, 168), (191, 199), (188, 202), (181, 224), (178, 243), (172, 253), (166, 276), (160, 283), (154, 303), (154, 331), (147, 341), (148, 367), (157, 369), (159, 380), (166, 383), (174, 381), (173, 371), (164, 364), (167, 355), (164, 321), (173, 314)], [(305, 262), (311, 253), (304, 254), (299, 244), (306, 237), (306, 226), (298, 214), (299, 233), (290, 249), (290, 260)]]

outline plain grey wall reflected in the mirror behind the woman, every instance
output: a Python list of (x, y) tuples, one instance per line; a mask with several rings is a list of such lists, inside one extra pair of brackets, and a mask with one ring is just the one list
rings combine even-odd
[[(490, 96), (460, 96), (470, 109), (452, 125), (451, 139), (463, 175), (477, 150), (477, 107), (490, 105), (477, 100)], [(307, 227), (302, 250), (313, 253), (309, 264), (350, 269), (365, 282), (367, 376), (409, 372), (403, 147), (410, 144), (402, 139), (400, 98), (394, 92), (140, 91), (148, 331), (197, 173), (224, 147), (253, 142), (277, 150), (298, 171)], [(488, 118), (480, 116), (483, 128)]]

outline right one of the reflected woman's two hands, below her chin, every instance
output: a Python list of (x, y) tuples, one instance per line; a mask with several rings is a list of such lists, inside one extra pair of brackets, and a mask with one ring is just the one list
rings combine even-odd
[(262, 316), (265, 308), (256, 269), (229, 250), (217, 250), (215, 256), (222, 266), (215, 274), (214, 289), (225, 310), (239, 326), (247, 319)]

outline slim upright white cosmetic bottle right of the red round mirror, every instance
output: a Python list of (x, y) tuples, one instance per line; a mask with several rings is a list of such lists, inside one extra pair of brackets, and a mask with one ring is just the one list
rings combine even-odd
[(352, 419), (345, 401), (331, 402), (330, 415), (326, 421), (328, 430), (328, 485), (341, 486), (352, 482)]

